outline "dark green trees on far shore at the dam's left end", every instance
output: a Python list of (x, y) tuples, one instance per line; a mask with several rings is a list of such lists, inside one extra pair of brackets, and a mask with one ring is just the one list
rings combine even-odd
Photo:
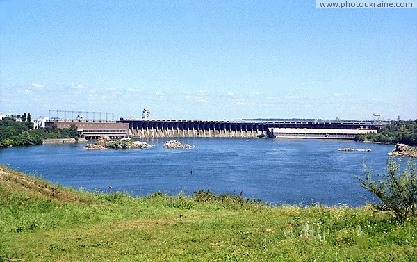
[[(24, 113), (20, 117), (22, 122), (17, 122), (11, 117), (0, 120), (0, 145), (26, 146), (42, 145), (43, 139), (51, 138), (75, 138), (80, 137), (80, 132), (72, 124), (69, 129), (59, 129), (55, 124), (43, 129), (33, 129), (31, 114)], [(25, 120), (25, 121), (24, 121)]]

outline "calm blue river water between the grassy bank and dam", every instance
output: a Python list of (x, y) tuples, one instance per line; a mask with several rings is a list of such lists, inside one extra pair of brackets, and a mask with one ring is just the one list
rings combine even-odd
[[(193, 149), (163, 149), (166, 138), (143, 140), (149, 149), (101, 151), (76, 145), (0, 149), (0, 163), (63, 186), (171, 195), (198, 188), (240, 193), (275, 204), (358, 206), (371, 196), (359, 186), (362, 161), (384, 171), (393, 145), (340, 140), (184, 138)], [(351, 147), (372, 152), (338, 152)], [(190, 174), (193, 170), (193, 174)]]

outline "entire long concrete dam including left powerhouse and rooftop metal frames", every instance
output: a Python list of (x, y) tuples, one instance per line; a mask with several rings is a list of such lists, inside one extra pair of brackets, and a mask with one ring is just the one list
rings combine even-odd
[[(56, 117), (51, 117), (54, 113)], [(88, 116), (92, 116), (92, 119)], [(115, 120), (114, 113), (49, 110), (49, 120), (45, 122), (45, 126), (61, 129), (70, 128), (72, 124), (76, 125), (78, 131), (87, 139), (96, 139), (99, 136), (354, 139), (357, 134), (378, 133), (386, 123), (375, 120), (160, 120), (150, 119), (149, 108), (143, 110), (142, 118), (120, 117), (120, 120)]]

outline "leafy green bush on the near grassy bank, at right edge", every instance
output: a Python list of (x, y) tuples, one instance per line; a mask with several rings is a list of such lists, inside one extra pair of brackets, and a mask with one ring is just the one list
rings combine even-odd
[(415, 158), (409, 158), (404, 171), (400, 172), (400, 161), (393, 156), (386, 162), (386, 173), (377, 174), (379, 180), (372, 177), (372, 168), (363, 163), (365, 178), (358, 177), (361, 186), (381, 200), (373, 204), (379, 210), (390, 210), (395, 218), (404, 222), (410, 215), (417, 214), (417, 167)]

